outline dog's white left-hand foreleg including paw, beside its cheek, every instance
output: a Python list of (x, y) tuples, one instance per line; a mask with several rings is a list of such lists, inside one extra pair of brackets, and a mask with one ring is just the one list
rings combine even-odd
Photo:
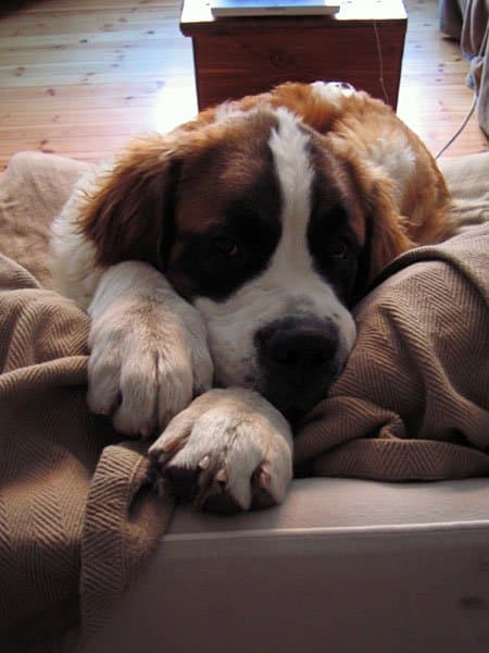
[(118, 431), (149, 436), (211, 387), (201, 317), (151, 266), (109, 268), (88, 312), (88, 404)]

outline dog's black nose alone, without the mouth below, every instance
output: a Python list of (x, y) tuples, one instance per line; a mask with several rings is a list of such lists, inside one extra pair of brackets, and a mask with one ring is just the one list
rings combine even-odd
[(293, 373), (328, 365), (338, 348), (338, 333), (329, 323), (288, 319), (261, 329), (256, 342), (265, 366)]

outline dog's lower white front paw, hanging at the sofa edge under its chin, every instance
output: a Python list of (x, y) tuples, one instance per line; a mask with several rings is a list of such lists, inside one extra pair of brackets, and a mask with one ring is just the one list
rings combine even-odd
[(280, 503), (292, 478), (290, 427), (249, 390), (212, 390), (198, 397), (149, 454), (177, 498), (215, 512)]

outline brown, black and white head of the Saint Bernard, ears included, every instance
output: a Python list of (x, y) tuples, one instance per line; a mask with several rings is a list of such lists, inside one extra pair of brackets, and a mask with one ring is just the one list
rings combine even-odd
[(224, 108), (136, 141), (82, 226), (99, 263), (146, 260), (197, 307), (217, 384), (293, 418), (340, 373), (354, 298), (406, 246), (385, 184), (288, 109)]

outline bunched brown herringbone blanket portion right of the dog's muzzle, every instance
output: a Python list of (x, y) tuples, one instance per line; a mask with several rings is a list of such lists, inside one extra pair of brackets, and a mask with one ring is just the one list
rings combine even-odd
[(489, 225), (392, 272), (359, 307), (355, 348), (296, 460), (389, 481), (489, 476)]

